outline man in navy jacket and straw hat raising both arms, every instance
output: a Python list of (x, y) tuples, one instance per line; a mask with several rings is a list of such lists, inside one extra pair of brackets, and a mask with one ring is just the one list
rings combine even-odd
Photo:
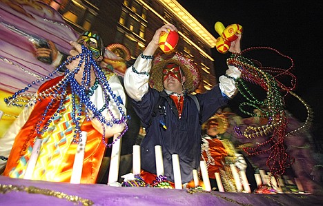
[[(169, 30), (177, 28), (167, 24), (155, 32), (144, 52), (126, 70), (124, 85), (146, 129), (141, 143), (141, 168), (146, 174), (156, 174), (155, 145), (161, 145), (167, 181), (174, 182), (172, 155), (178, 154), (182, 183), (186, 184), (193, 180), (193, 169), (199, 167), (201, 125), (237, 93), (233, 78), (241, 72), (229, 66), (227, 76), (221, 76), (212, 90), (190, 95), (200, 80), (193, 61), (173, 53), (156, 56), (153, 62), (159, 36)], [(231, 52), (240, 52), (240, 39), (241, 35), (231, 43)], [(143, 177), (149, 183), (149, 178)]]

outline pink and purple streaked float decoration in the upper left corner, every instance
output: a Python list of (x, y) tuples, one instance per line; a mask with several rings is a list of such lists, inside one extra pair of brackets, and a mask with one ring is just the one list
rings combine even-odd
[[(61, 14), (36, 1), (24, 4), (0, 1), (0, 22), (0, 57), (10, 62), (0, 61), (0, 68), (4, 68), (0, 70), (0, 91), (10, 93), (21, 90), (35, 81), (37, 76), (46, 76), (55, 68), (38, 61), (35, 46), (21, 34), (8, 30), (2, 22), (41, 39), (49, 39), (65, 54), (72, 48), (69, 42), (78, 37), (77, 32), (64, 22)], [(31, 87), (29, 92), (37, 92), (39, 85)]]

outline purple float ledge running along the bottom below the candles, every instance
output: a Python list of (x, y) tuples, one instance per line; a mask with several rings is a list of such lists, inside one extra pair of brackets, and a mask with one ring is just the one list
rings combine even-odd
[[(0, 184), (34, 186), (92, 200), (94, 205), (321, 205), (323, 196), (303, 194), (244, 194), (207, 192), (189, 194), (186, 189), (112, 187), (28, 181), (0, 176)], [(66, 199), (8, 192), (0, 194), (0, 205), (75, 205)], [(79, 205), (81, 205), (79, 203)]]

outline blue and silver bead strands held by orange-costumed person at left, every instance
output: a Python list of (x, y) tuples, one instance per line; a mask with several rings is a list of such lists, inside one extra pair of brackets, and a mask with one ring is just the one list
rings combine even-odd
[[(119, 100), (117, 99), (117, 96), (113, 93), (108, 80), (106, 79), (106, 75), (101, 70), (99, 65), (97, 65), (97, 62), (95, 59), (92, 58), (92, 52), (88, 50), (84, 45), (82, 46), (82, 52), (81, 54), (77, 56), (72, 56), (70, 59), (64, 61), (59, 67), (52, 73), (48, 74), (48, 76), (45, 76), (41, 79), (37, 79), (36, 81), (32, 81), (32, 83), (28, 84), (27, 87), (23, 88), (22, 90), (19, 90), (15, 92), (12, 96), (8, 97), (8, 99), (5, 99), (5, 103), (13, 106), (18, 107), (28, 107), (32, 106), (33, 104), (37, 103), (37, 101), (41, 101), (42, 99), (48, 98), (48, 96), (52, 97), (50, 102), (48, 103), (46, 110), (39, 116), (39, 120), (35, 124), (35, 127), (30, 131), (30, 134), (28, 136), (31, 136), (34, 132), (37, 132), (38, 136), (41, 136), (46, 130), (48, 129), (49, 123), (54, 119), (54, 116), (60, 115), (62, 110), (62, 105), (64, 99), (66, 99), (66, 95), (68, 95), (68, 88), (70, 87), (70, 92), (72, 96), (72, 122), (74, 125), (73, 127), (73, 143), (80, 143), (82, 141), (81, 138), (81, 123), (79, 122), (81, 120), (81, 116), (85, 114), (86, 120), (90, 121), (91, 119), (96, 118), (99, 120), (99, 122), (102, 125), (103, 128), (103, 134), (102, 134), (102, 142), (106, 147), (111, 147), (112, 144), (115, 143), (121, 136), (123, 136), (126, 131), (128, 130), (128, 125), (126, 123), (129, 116), (126, 116), (125, 112), (122, 110), (122, 107), (120, 106)], [(72, 62), (76, 59), (79, 59), (79, 64), (77, 67), (70, 72), (70, 70), (66, 70), (65, 76), (57, 85), (54, 87), (50, 87), (47, 90), (44, 90), (43, 92), (39, 92), (39, 94), (33, 94), (33, 93), (25, 93), (28, 92), (28, 89), (32, 87), (32, 85), (37, 85), (37, 83), (40, 83), (41, 81), (47, 81), (52, 77), (53, 75), (57, 74), (57, 71), (61, 70), (61, 68)], [(83, 72), (83, 78), (81, 81), (81, 85), (76, 81), (75, 74), (77, 74), (80, 70), (81, 65), (84, 63), (84, 72)], [(92, 87), (90, 87), (90, 70), (93, 69), (96, 81)], [(100, 110), (90, 101), (90, 96), (94, 93), (98, 85), (101, 85), (103, 91), (104, 91), (104, 107), (102, 107)], [(109, 101), (110, 98), (114, 101), (114, 106), (118, 107), (118, 110), (121, 114), (121, 118), (117, 119), (115, 118), (115, 115), (112, 114), (112, 111), (110, 110)], [(28, 100), (26, 100), (28, 99)], [(43, 123), (43, 120), (45, 120), (48, 112), (52, 108), (52, 106), (59, 101), (59, 107), (55, 114), (48, 120), (47, 123)], [(24, 104), (23, 104), (24, 103)], [(104, 110), (108, 110), (110, 116), (112, 117), (110, 120), (107, 120), (104, 118), (101, 112)], [(90, 116), (90, 114), (93, 114), (93, 116)], [(121, 132), (121, 134), (113, 141), (112, 143), (108, 144), (106, 142), (105, 138), (105, 126), (112, 127), (114, 124), (121, 124), (124, 123), (125, 127), (124, 130)], [(26, 143), (28, 142), (29, 138), (27, 138)], [(26, 146), (26, 145), (25, 145)], [(25, 149), (23, 149), (21, 152), (23, 152)]]

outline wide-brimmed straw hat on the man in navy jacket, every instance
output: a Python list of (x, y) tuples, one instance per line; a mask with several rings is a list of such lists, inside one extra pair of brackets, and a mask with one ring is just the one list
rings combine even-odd
[(153, 68), (150, 70), (150, 87), (158, 90), (159, 92), (164, 90), (164, 78), (162, 71), (165, 65), (168, 63), (175, 63), (179, 65), (179, 68), (181, 68), (184, 72), (184, 76), (186, 78), (184, 88), (187, 92), (193, 92), (197, 89), (201, 80), (199, 69), (193, 60), (188, 59), (179, 52), (172, 54), (159, 54), (155, 57)]

